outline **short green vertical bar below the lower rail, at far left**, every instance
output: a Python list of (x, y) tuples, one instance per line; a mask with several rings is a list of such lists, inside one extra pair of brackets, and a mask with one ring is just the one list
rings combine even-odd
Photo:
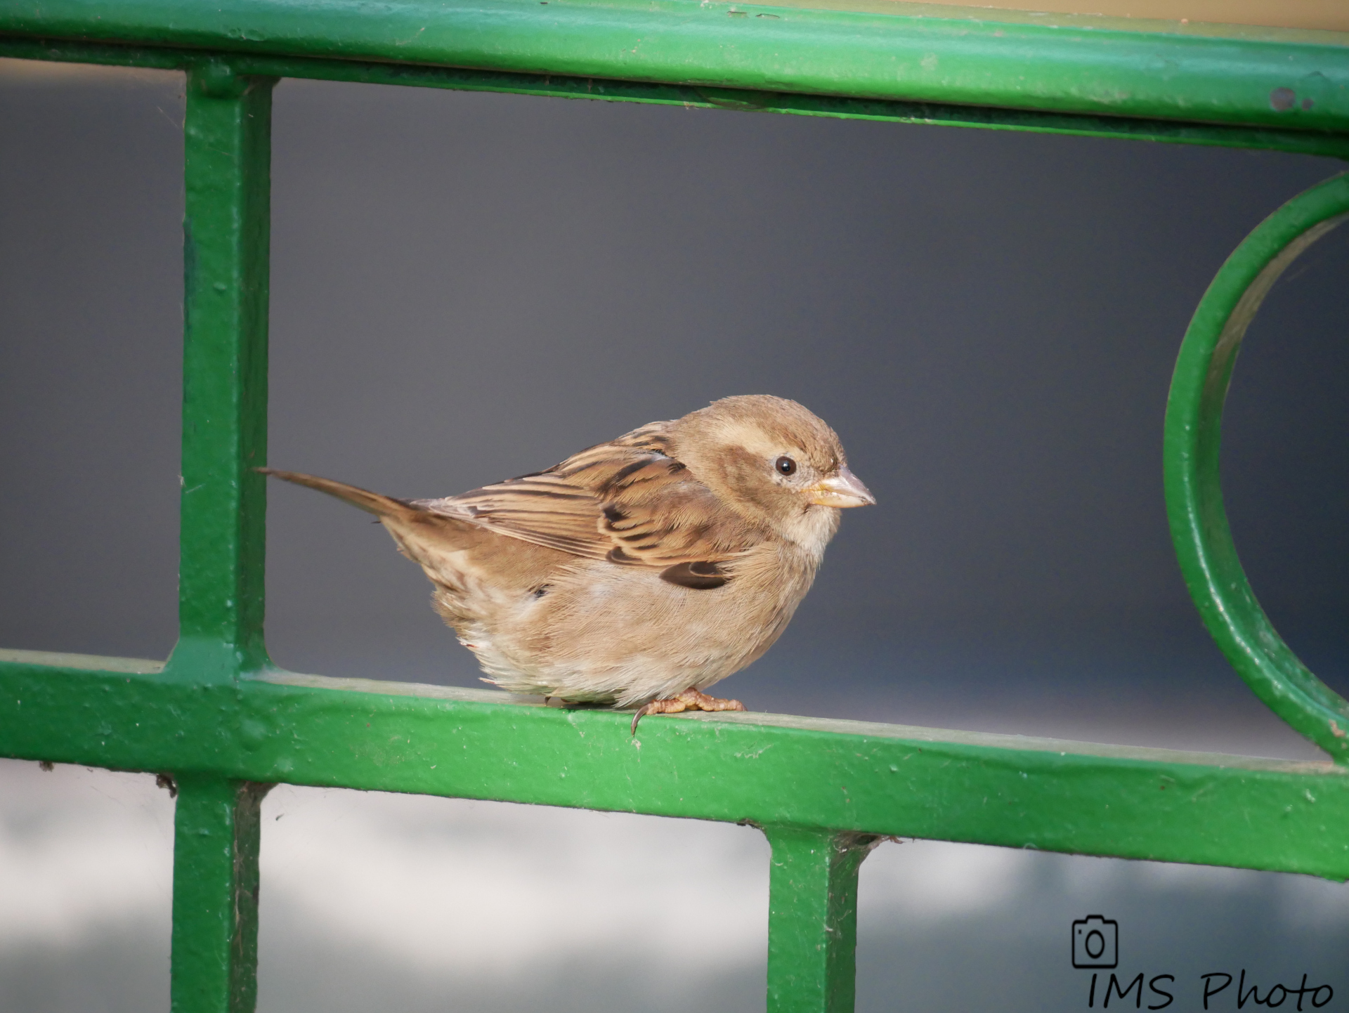
[(258, 842), (271, 785), (178, 778), (173, 863), (173, 1013), (254, 1013)]

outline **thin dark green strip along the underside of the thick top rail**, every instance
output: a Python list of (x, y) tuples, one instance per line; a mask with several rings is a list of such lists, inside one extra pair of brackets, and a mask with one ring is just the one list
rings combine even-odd
[[(150, 49), (107, 43), (70, 43), (18, 36), (0, 36), (0, 55), (19, 59), (158, 67), (162, 70), (182, 70), (202, 59), (202, 54), (193, 50)], [(1174, 144), (1263, 148), (1349, 161), (1349, 134), (1321, 134), (1319, 131), (1217, 127), (1211, 124), (1174, 123), (1170, 120), (1141, 120), (1125, 116), (1082, 116), (977, 105), (839, 98), (832, 96), (653, 85), (606, 78), (517, 74), (498, 70), (464, 70), (460, 67), (429, 67), (399, 63), (362, 63), (356, 61), (308, 59), (301, 57), (235, 55), (229, 57), (229, 61), (239, 73), (262, 77), (298, 77), (357, 84), (410, 85), (464, 92), (509, 92), (558, 98), (594, 98), (600, 101), (684, 105), (704, 109), (827, 116), (831, 119), (923, 123), (943, 127), (983, 127), (990, 129), (1031, 131), (1036, 134), (1155, 140)]]

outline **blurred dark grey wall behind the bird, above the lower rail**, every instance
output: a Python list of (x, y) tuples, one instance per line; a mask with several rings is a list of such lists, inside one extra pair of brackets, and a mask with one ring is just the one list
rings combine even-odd
[[(181, 88), (11, 70), (0, 92), (3, 643), (173, 645)], [(797, 398), (880, 506), (844, 517), (728, 692), (1300, 749), (1188, 603), (1160, 432), (1209, 279), (1337, 163), (430, 89), (275, 98), (272, 464), (447, 495), (727, 394)], [(1331, 235), (1271, 295), (1224, 461), (1261, 600), (1340, 685), (1346, 266)], [(378, 527), (270, 496), (278, 662), (476, 681)]]

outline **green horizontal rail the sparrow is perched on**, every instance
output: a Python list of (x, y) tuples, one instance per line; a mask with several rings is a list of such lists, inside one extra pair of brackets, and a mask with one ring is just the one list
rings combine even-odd
[[(46, 664), (45, 664), (46, 662)], [(0, 652), (0, 755), (786, 824), (1349, 879), (1349, 773), (765, 714), (629, 716), (498, 692)]]

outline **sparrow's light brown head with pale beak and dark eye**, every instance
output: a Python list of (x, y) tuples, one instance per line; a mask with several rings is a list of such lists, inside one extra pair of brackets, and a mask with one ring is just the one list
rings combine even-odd
[(727, 506), (813, 550), (832, 537), (840, 507), (876, 503), (838, 434), (795, 401), (723, 398), (674, 422), (670, 436), (674, 456)]

